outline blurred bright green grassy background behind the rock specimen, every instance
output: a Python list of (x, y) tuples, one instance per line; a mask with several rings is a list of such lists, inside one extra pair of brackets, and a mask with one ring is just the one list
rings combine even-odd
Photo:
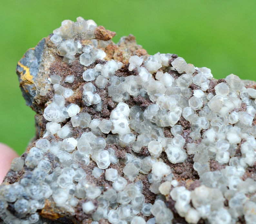
[[(0, 141), (21, 154), (34, 136), (34, 112), (22, 98), (15, 67), (28, 48), (65, 19), (93, 19), (133, 34), (149, 54), (172, 53), (215, 78), (255, 80), (255, 0), (8, 0), (0, 4)], [(1, 155), (0, 155), (1, 156)]]

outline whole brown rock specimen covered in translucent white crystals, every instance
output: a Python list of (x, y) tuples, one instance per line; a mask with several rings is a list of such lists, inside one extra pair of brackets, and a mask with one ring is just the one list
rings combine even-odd
[(17, 65), (36, 141), (0, 223), (255, 223), (256, 89), (65, 20)]

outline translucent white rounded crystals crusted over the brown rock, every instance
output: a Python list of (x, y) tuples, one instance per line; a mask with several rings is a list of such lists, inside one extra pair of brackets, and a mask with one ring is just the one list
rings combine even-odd
[[(37, 211), (45, 199), (74, 215), (79, 200), (86, 199), (82, 210), (94, 224), (101, 219), (113, 224), (167, 224), (174, 218), (167, 203), (170, 198), (188, 223), (204, 219), (235, 224), (243, 215), (246, 223), (255, 223), (256, 182), (243, 175), (256, 162), (256, 90), (245, 88), (233, 74), (217, 82), (210, 69), (194, 67), (172, 54), (133, 55), (126, 62), (133, 73), (124, 77), (116, 72), (125, 62), (109, 60), (88, 68), (96, 59), (105, 60), (102, 48), (110, 44), (95, 39), (96, 27), (94, 21), (81, 17), (75, 23), (65, 20), (51, 41), (65, 63), (71, 64), (79, 54), (85, 66), (83, 103), (101, 112), (104, 99), (97, 91), (108, 86), (105, 91), (116, 107), (109, 118), (92, 118), (81, 112), (81, 102), (67, 105), (73, 90), (64, 88), (58, 75), (51, 75), (54, 97), (43, 114), (47, 121), (44, 138), (29, 150), (25, 161), (12, 162), (13, 171), (25, 166), (30, 173), (0, 187), (4, 223), (38, 223)], [(91, 44), (83, 47), (78, 37)], [(74, 80), (74, 75), (65, 78), (66, 83)], [(128, 100), (134, 97), (145, 99), (146, 108), (131, 106)], [(84, 130), (79, 137), (73, 134), (75, 128)], [(185, 131), (189, 132), (185, 135)], [(59, 141), (47, 140), (53, 135)], [(120, 160), (110, 144), (129, 146), (132, 151)], [(143, 148), (147, 156), (138, 154)], [(58, 166), (53, 167), (47, 153), (54, 155)], [(201, 181), (194, 190), (180, 186), (170, 166), (191, 155)], [(83, 167), (93, 161), (91, 176), (104, 175), (111, 187), (91, 181)], [(211, 171), (210, 161), (221, 168)], [(117, 169), (120, 164), (123, 168)], [(157, 195), (154, 203), (146, 202), (142, 175), (147, 175), (149, 190)], [(14, 203), (18, 218), (7, 209), (8, 203)]]

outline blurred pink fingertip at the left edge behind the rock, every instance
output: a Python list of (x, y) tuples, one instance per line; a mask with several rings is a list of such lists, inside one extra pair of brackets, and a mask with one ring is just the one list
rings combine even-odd
[(0, 143), (0, 183), (11, 168), (11, 162), (18, 154), (9, 146)]

